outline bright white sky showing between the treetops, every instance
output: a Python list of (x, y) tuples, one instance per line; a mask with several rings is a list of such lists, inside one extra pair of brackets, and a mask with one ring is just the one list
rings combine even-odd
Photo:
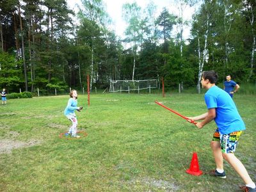
[[(153, 3), (157, 6), (157, 13), (156, 16), (159, 16), (162, 12), (163, 8), (166, 7), (170, 13), (173, 13), (173, 15), (179, 15), (179, 11), (176, 6), (173, 5), (172, 0), (103, 0), (103, 2), (106, 4), (106, 10), (113, 20), (113, 26), (112, 29), (116, 31), (116, 35), (122, 37), (124, 36), (124, 31), (126, 28), (125, 21), (122, 19), (122, 5), (125, 3), (134, 3), (136, 2), (138, 6), (141, 6), (142, 10), (147, 6), (150, 1), (153, 1)], [(74, 12), (77, 13), (77, 4), (81, 6), (80, 0), (68, 0), (67, 1), (68, 6), (74, 10)], [(187, 8), (185, 11), (184, 19), (191, 20), (192, 15), (194, 13), (193, 8)], [(177, 29), (173, 29), (175, 32), (177, 32)], [(184, 30), (184, 38), (189, 37), (190, 27), (186, 27)]]

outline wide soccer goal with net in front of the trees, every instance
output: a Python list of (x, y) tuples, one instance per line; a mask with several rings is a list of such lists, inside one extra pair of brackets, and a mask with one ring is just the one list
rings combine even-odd
[(115, 93), (115, 92), (128, 92), (131, 91), (138, 91), (140, 93), (140, 90), (147, 90), (151, 93), (151, 89), (157, 89), (158, 86), (158, 80), (157, 79), (146, 79), (146, 80), (115, 80), (110, 81), (109, 86), (109, 92)]

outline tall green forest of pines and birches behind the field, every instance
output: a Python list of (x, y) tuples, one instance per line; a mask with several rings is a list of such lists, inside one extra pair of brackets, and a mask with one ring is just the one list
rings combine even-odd
[[(156, 4), (122, 6), (125, 35), (109, 29), (102, 0), (81, 0), (77, 15), (66, 0), (0, 0), (0, 87), (8, 92), (107, 88), (111, 80), (164, 78), (200, 92), (202, 71), (216, 70), (255, 86), (255, 0), (175, 0), (179, 15)], [(193, 19), (185, 8), (196, 6)], [(74, 24), (72, 18), (79, 20)], [(184, 38), (184, 27), (191, 35)], [(173, 33), (173, 28), (178, 33)]]

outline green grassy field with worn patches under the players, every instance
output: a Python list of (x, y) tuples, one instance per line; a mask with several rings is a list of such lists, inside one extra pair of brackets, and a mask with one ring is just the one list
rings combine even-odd
[[(79, 95), (78, 129), (88, 136), (63, 140), (70, 122), (68, 96), (8, 100), (0, 106), (0, 191), (238, 191), (243, 181), (225, 163), (227, 179), (189, 175), (193, 152), (200, 170), (215, 168), (209, 143), (212, 122), (196, 129), (154, 104), (182, 115), (206, 111), (204, 95)], [(256, 180), (256, 99), (235, 95), (246, 131), (236, 155)]]

